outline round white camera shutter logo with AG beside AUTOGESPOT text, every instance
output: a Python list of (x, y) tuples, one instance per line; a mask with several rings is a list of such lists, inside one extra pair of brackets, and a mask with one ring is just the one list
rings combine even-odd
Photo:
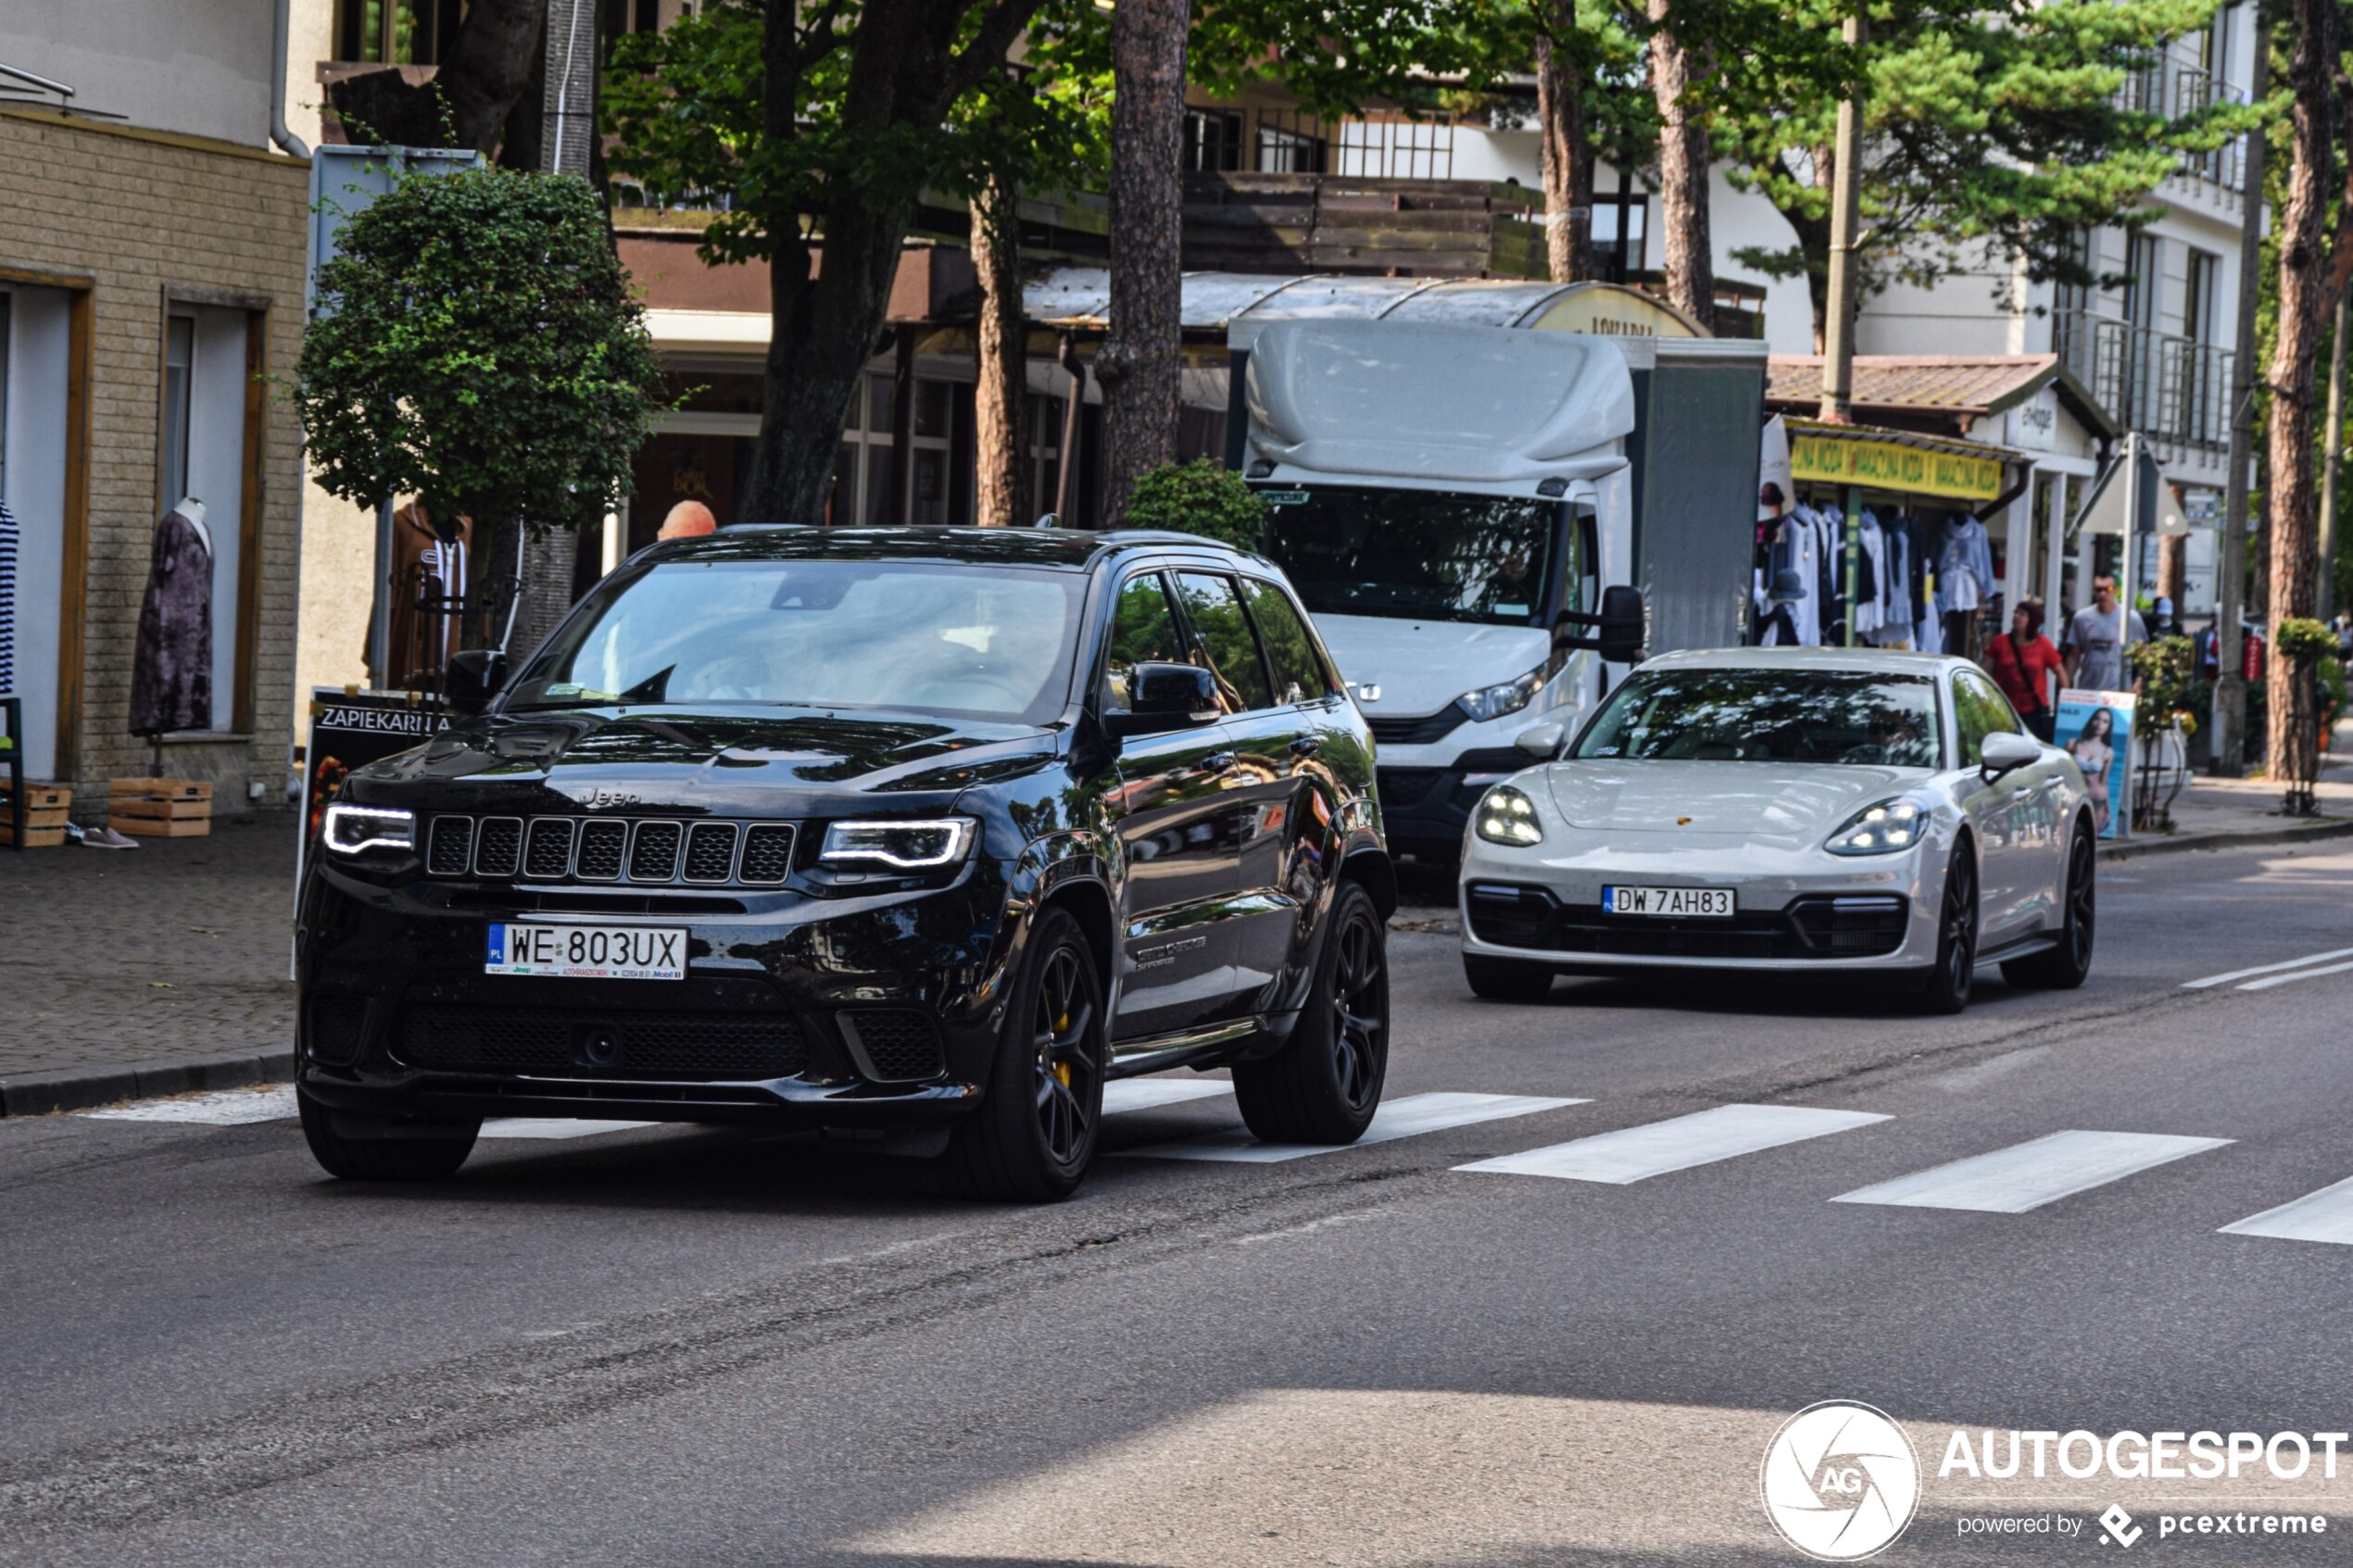
[(1920, 1455), (1882, 1410), (1828, 1399), (1781, 1422), (1765, 1448), (1765, 1516), (1826, 1563), (1885, 1549), (1920, 1507)]

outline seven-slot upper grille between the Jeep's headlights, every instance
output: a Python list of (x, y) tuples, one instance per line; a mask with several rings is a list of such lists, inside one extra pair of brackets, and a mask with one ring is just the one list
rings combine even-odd
[(541, 884), (781, 886), (793, 875), (793, 823), (435, 816), (426, 827), (426, 872)]

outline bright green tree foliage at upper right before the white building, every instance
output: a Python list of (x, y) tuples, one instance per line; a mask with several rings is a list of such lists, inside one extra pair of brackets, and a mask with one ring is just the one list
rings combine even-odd
[[(1840, 0), (1793, 0), (1784, 16), (1791, 33), (1826, 33), (1840, 12)], [(2165, 40), (2212, 12), (2214, 0), (1873, 5), (1861, 59), (1866, 296), (1960, 270), (2007, 280), (2014, 266), (2035, 282), (2101, 282), (2082, 261), (2082, 230), (2146, 221), (2141, 202), (2181, 150), (2217, 148), (2261, 120), (2261, 108), (2228, 103), (2179, 120), (2118, 106), (2132, 75), (2169, 71)], [(1788, 75), (1772, 49), (1725, 82), (1720, 108), (1734, 181), (1800, 235), (1788, 249), (1734, 254), (1772, 277), (1809, 277), (1817, 299), (1831, 219), (1817, 158), (1835, 115), (1835, 94)]]

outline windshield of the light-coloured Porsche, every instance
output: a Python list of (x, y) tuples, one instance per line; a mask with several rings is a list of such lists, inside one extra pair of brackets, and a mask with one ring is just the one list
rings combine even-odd
[(1937, 686), (1859, 670), (1649, 670), (1617, 689), (1574, 757), (1934, 769)]

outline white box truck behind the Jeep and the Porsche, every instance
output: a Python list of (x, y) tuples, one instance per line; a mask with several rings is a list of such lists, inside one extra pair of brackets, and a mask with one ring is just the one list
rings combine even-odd
[(1452, 856), (1520, 733), (1642, 651), (1744, 642), (1765, 343), (1278, 320), (1240, 374), (1242, 473), (1400, 849)]

